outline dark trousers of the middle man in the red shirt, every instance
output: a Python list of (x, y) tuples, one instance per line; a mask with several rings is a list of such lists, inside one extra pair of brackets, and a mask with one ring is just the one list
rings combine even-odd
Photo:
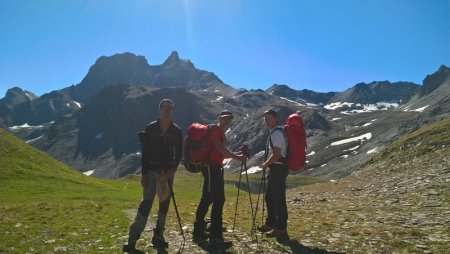
[(211, 166), (202, 170), (203, 191), (198, 204), (195, 220), (198, 223), (205, 222), (205, 216), (211, 209), (211, 238), (222, 237), (222, 213), (225, 204), (225, 190), (223, 181), (223, 169), (220, 166)]

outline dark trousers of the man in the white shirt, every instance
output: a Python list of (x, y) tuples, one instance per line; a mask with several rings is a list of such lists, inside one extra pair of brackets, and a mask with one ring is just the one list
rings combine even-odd
[(289, 168), (285, 164), (270, 166), (266, 189), (266, 224), (278, 229), (287, 229), (286, 177)]

